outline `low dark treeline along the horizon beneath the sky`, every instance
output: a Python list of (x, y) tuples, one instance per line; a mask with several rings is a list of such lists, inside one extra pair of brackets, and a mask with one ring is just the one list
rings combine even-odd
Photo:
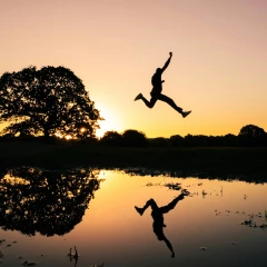
[[(4, 140), (40, 140), (42, 137), (11, 137), (9, 135), (0, 137)], [(48, 142), (72, 144), (78, 140), (63, 140), (51, 137)], [(91, 142), (95, 145), (116, 146), (116, 147), (267, 147), (267, 132), (260, 127), (254, 125), (244, 126), (237, 136), (228, 134), (225, 136), (204, 136), (204, 135), (179, 135), (170, 138), (157, 137), (147, 138), (146, 135), (138, 130), (125, 130), (122, 134), (117, 131), (107, 131), (102, 138), (87, 138), (79, 142)]]

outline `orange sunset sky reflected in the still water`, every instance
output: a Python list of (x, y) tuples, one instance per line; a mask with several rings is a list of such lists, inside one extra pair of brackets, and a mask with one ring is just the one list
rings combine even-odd
[[(82, 222), (63, 237), (22, 236), (0, 230), (2, 261), (13, 266), (18, 256), (36, 260), (41, 266), (75, 266), (66, 256), (75, 245), (81, 255), (78, 266), (106, 263), (105, 266), (264, 266), (267, 231), (241, 226), (248, 214), (267, 209), (267, 186), (240, 181), (178, 179), (126, 176), (103, 171), (106, 180), (96, 191)], [(178, 202), (165, 215), (165, 234), (171, 241), (176, 258), (152, 233), (150, 208), (140, 217), (135, 206), (154, 198), (167, 205), (179, 191), (164, 187), (165, 182), (181, 182), (192, 197)], [(155, 186), (146, 186), (152, 182)], [(156, 185), (156, 184), (159, 184)], [(202, 185), (198, 186), (199, 182)], [(222, 196), (221, 190), (222, 188)], [(202, 190), (207, 192), (202, 197)], [(198, 195), (197, 195), (198, 194)], [(211, 195), (210, 195), (211, 194)], [(244, 199), (244, 195), (247, 199)], [(216, 211), (220, 212), (216, 215)], [(230, 210), (230, 212), (226, 212)], [(245, 215), (236, 211), (245, 211)], [(265, 221), (257, 218), (258, 222)], [(18, 244), (12, 244), (17, 240)], [(237, 245), (231, 245), (236, 241)], [(6, 247), (12, 244), (11, 247)], [(200, 247), (207, 247), (201, 251)], [(44, 254), (44, 257), (40, 257)], [(24, 260), (26, 260), (24, 259)]]

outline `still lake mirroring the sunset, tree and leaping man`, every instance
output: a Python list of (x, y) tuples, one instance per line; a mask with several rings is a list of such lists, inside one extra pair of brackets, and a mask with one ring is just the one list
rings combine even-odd
[(266, 266), (266, 184), (136, 169), (12, 169), (0, 176), (0, 265)]

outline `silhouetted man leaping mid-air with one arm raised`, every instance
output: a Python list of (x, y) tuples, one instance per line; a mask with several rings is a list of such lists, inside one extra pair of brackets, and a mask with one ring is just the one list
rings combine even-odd
[(170, 63), (170, 59), (172, 57), (172, 52), (169, 52), (169, 58), (168, 60), (166, 61), (164, 68), (157, 68), (155, 75), (152, 76), (152, 79), (151, 79), (151, 83), (152, 83), (152, 90), (150, 92), (150, 96), (151, 96), (151, 99), (150, 101), (148, 101), (144, 96), (142, 93), (139, 93), (136, 98), (135, 98), (135, 101), (136, 100), (139, 100), (141, 99), (146, 106), (148, 108), (152, 108), (155, 106), (155, 103), (157, 102), (157, 100), (161, 100), (164, 102), (167, 102), (171, 108), (174, 108), (176, 111), (178, 111), (184, 118), (186, 118), (191, 111), (182, 111), (182, 108), (178, 107), (175, 101), (162, 95), (161, 91), (162, 91), (162, 82), (165, 82), (164, 80), (161, 80), (161, 75), (164, 73), (164, 71), (167, 69), (167, 67), (169, 66)]

